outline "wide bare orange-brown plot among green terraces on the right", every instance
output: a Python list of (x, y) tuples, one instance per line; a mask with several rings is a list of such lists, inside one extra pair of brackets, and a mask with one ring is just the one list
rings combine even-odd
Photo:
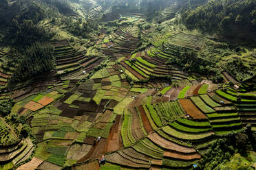
[(207, 119), (207, 117), (193, 104), (190, 99), (180, 99), (179, 102), (185, 112), (189, 114), (189, 116), (193, 117), (193, 119)]

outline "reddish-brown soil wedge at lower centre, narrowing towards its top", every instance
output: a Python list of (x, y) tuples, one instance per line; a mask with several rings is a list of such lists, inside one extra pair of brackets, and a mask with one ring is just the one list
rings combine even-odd
[(109, 137), (107, 138), (107, 145), (105, 146), (105, 152), (115, 151), (120, 149), (120, 147), (122, 147), (119, 145), (120, 138), (118, 138), (118, 136), (120, 135), (120, 132), (118, 133), (120, 120), (121, 120), (121, 115), (117, 115), (116, 122), (111, 126)]

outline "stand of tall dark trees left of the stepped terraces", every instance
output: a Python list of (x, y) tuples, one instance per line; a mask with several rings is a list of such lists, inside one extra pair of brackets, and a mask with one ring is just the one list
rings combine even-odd
[(15, 55), (19, 60), (12, 82), (29, 80), (32, 76), (54, 69), (54, 47), (50, 44), (36, 42)]

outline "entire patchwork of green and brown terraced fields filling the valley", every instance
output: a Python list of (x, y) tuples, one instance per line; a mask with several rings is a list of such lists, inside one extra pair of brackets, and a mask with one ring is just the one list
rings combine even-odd
[[(83, 8), (89, 21), (108, 17), (107, 5), (96, 1), (83, 1)], [(66, 15), (78, 17), (80, 10)], [(1, 91), (0, 99), (15, 101), (11, 114), (22, 119), (11, 124), (0, 117), (0, 169), (193, 169), (217, 139), (248, 124), (256, 131), (256, 93), (249, 86), (225, 71), (228, 84), (215, 84), (173, 64), (185, 52), (206, 48), (207, 38), (170, 23), (166, 40), (145, 45), (142, 38), (153, 39), (160, 23), (147, 26), (138, 12), (116, 17), (88, 43), (53, 42), (56, 71)], [(86, 50), (77, 51), (80, 45)], [(0, 85), (6, 86), (12, 73), (1, 67)], [(34, 142), (19, 138), (21, 121)]]

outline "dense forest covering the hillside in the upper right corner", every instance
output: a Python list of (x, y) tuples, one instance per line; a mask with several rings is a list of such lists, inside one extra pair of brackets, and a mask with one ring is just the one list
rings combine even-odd
[(256, 42), (255, 0), (211, 0), (182, 13), (188, 29), (217, 33), (225, 38)]

